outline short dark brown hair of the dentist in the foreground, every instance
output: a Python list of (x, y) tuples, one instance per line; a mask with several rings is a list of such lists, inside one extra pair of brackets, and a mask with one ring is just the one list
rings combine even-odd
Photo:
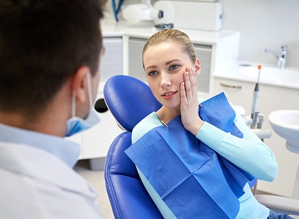
[(99, 68), (99, 0), (0, 0), (0, 111), (37, 114), (81, 66)]

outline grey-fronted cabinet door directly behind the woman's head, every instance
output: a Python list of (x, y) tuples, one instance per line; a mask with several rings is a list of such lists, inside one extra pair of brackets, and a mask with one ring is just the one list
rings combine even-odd
[[(147, 82), (145, 70), (142, 66), (142, 51), (146, 39), (129, 39), (129, 75)], [(211, 76), (212, 46), (194, 45), (196, 56), (200, 61), (201, 71), (197, 77), (198, 92), (208, 94)]]

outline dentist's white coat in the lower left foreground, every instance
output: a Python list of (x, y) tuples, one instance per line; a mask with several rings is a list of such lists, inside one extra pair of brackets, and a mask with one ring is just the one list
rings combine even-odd
[(1, 219), (100, 219), (97, 194), (56, 156), (0, 142)]

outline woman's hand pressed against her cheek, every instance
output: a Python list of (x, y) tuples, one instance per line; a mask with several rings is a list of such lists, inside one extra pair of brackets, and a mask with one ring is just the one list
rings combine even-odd
[(180, 113), (184, 127), (196, 135), (203, 124), (198, 115), (197, 81), (193, 68), (184, 73), (184, 82), (180, 85)]

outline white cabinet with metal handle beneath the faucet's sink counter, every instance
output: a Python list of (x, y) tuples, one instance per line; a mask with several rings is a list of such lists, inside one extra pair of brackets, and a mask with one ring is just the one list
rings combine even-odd
[[(237, 88), (224, 87), (221, 84)], [(243, 106), (246, 110), (246, 114), (250, 115), (254, 87), (255, 83), (216, 78), (214, 93), (218, 94), (224, 92), (229, 101), (234, 105)], [(265, 139), (264, 142), (274, 152), (279, 167), (277, 179), (271, 183), (258, 181), (258, 190), (292, 197), (297, 166), (299, 165), (299, 154), (292, 153), (286, 148), (285, 139), (281, 138), (272, 130), (268, 121), (268, 115), (271, 111), (278, 109), (298, 110), (299, 90), (260, 84), (260, 96), (257, 108), (261, 110), (261, 113), (263, 113), (265, 117), (262, 128), (271, 129), (271, 137)]]

